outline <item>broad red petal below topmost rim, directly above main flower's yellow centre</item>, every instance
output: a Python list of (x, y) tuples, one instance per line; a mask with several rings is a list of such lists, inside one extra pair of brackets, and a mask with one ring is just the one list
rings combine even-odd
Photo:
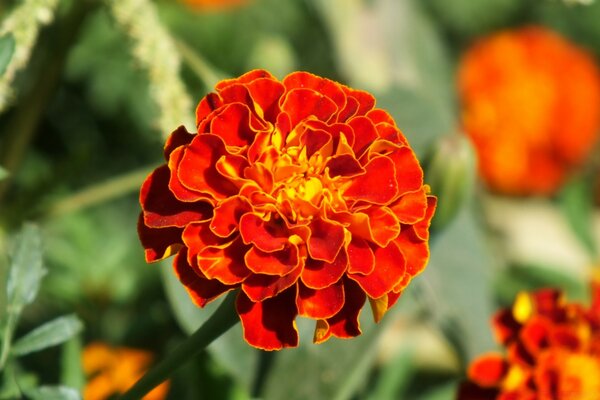
[(290, 116), (291, 126), (308, 117), (328, 121), (337, 107), (328, 97), (310, 89), (293, 89), (285, 96), (281, 105), (282, 111)]

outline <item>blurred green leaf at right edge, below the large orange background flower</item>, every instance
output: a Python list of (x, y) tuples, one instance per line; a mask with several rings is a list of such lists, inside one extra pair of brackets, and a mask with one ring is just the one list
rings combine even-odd
[(598, 258), (593, 234), (594, 196), (591, 183), (585, 178), (569, 182), (560, 193), (559, 203), (573, 233), (592, 259)]

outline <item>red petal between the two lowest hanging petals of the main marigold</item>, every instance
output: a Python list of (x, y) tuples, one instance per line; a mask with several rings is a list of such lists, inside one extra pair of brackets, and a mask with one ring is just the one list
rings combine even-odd
[(310, 289), (298, 284), (298, 313), (301, 317), (326, 319), (337, 314), (344, 305), (342, 280), (323, 289)]

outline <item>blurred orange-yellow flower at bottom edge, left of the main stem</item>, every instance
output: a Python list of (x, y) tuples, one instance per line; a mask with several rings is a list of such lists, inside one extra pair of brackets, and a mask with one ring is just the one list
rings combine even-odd
[[(152, 355), (147, 351), (98, 342), (87, 345), (82, 358), (83, 370), (89, 378), (83, 391), (85, 400), (106, 400), (124, 393), (152, 362)], [(166, 381), (144, 396), (144, 400), (165, 399), (168, 391), (169, 381)]]

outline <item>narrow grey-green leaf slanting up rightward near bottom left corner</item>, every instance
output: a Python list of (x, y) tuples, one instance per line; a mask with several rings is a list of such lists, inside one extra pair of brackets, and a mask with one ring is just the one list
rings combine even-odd
[(56, 346), (81, 332), (83, 324), (75, 315), (66, 315), (34, 329), (19, 340), (12, 349), (13, 355), (24, 355)]

